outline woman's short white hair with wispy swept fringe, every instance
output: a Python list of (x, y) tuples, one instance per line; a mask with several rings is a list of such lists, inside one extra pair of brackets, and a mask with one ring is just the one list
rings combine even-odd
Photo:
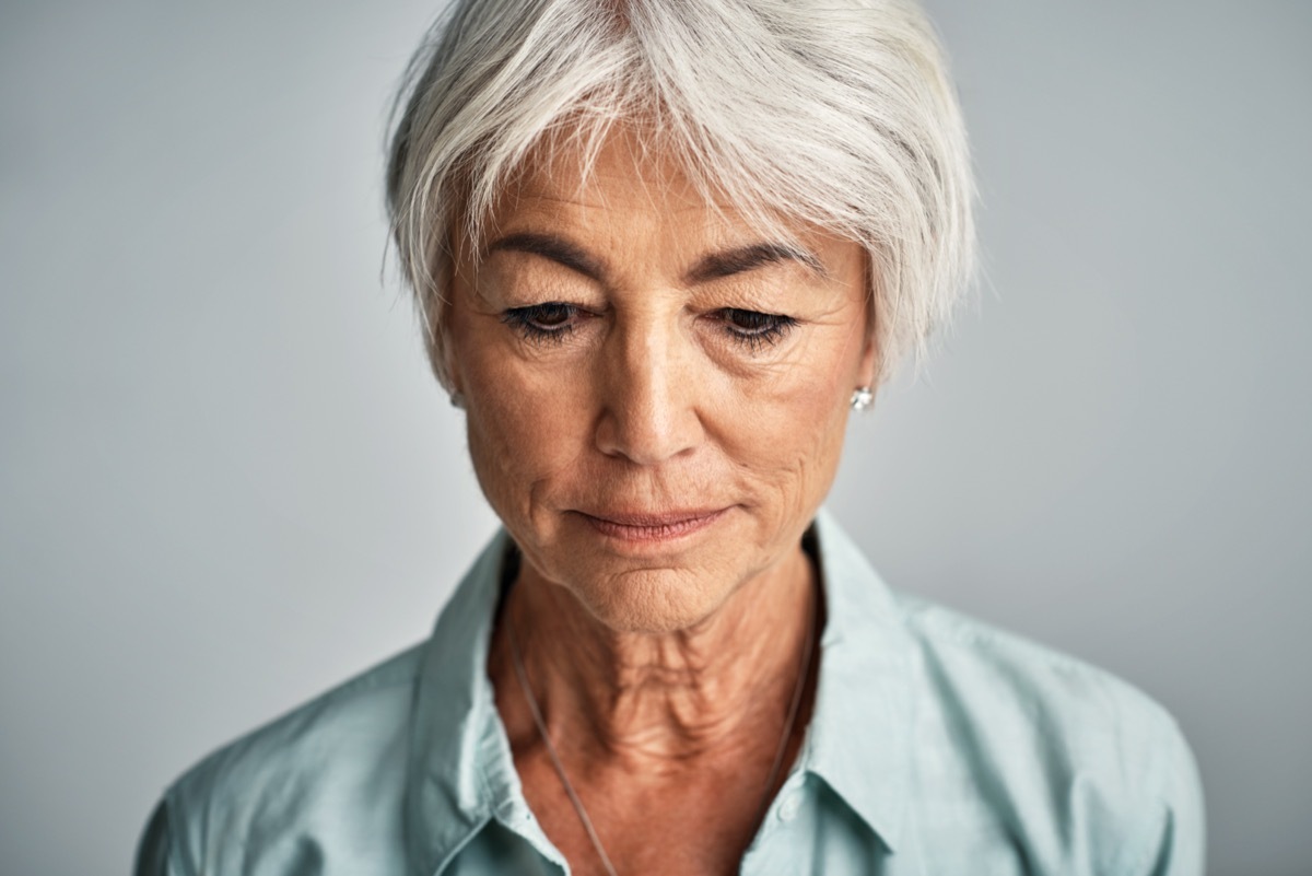
[[(970, 285), (975, 197), (947, 63), (912, 0), (457, 0), (395, 106), (387, 206), (443, 386), (451, 241), (555, 136), (580, 182), (643, 122), (703, 193), (866, 248), (880, 378)], [(454, 223), (461, 223), (457, 227)]]

